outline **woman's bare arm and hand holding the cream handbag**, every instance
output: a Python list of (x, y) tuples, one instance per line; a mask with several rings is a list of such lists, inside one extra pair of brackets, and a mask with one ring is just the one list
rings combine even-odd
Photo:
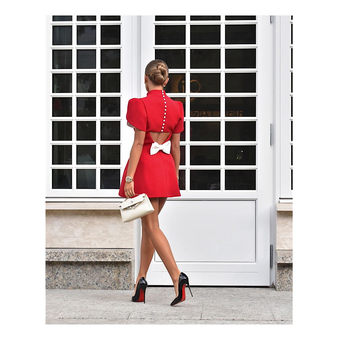
[[(145, 135), (146, 135), (145, 131), (135, 128), (134, 143), (132, 144), (130, 150), (127, 176), (134, 178), (137, 165), (139, 164), (140, 161)], [(135, 196), (134, 181), (125, 183), (124, 194), (128, 198), (132, 198), (133, 196)]]

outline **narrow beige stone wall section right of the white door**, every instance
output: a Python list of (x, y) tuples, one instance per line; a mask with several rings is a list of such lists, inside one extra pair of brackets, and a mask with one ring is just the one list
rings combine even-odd
[(276, 250), (293, 250), (293, 211), (277, 211)]

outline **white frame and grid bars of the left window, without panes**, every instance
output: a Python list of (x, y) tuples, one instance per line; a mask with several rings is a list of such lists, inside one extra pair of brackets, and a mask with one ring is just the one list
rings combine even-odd
[[(102, 15), (109, 15), (103, 13)], [(123, 175), (124, 166), (129, 158), (129, 151), (132, 144), (132, 130), (125, 123), (128, 100), (132, 97), (132, 68), (135, 66), (135, 57), (132, 53), (132, 17), (121, 16), (121, 21), (101, 21), (101, 13), (96, 15), (96, 21), (76, 21), (76, 14), (72, 14), (73, 21), (52, 21), (52, 15), (46, 15), (46, 200), (50, 198), (119, 198), (118, 189), (100, 189), (100, 169), (120, 169), (120, 182)], [(116, 13), (112, 13), (116, 15)], [(76, 26), (77, 25), (96, 25), (96, 45), (77, 46), (76, 45)], [(100, 25), (121, 25), (121, 44), (120, 45), (101, 45)], [(52, 26), (72, 26), (72, 45), (52, 46)], [(52, 50), (71, 49), (72, 50), (72, 69), (52, 69)], [(96, 69), (76, 69), (76, 50), (77, 49), (96, 49)], [(120, 49), (121, 50), (121, 69), (100, 69), (100, 49)], [(76, 73), (96, 73), (96, 93), (76, 93)], [(52, 93), (52, 74), (71, 73), (72, 74), (72, 93)], [(120, 93), (100, 93), (100, 74), (101, 73), (121, 73)], [(134, 79), (135, 80), (135, 79)], [(76, 117), (76, 97), (96, 97), (96, 117)], [(121, 97), (121, 114), (119, 117), (100, 116), (100, 97)], [(71, 117), (52, 117), (52, 97), (72, 97), (72, 116)], [(72, 141), (52, 141), (51, 121), (72, 121)], [(76, 121), (97, 121), (96, 122), (96, 141), (76, 141)], [(119, 141), (100, 140), (100, 121), (121, 121)], [(52, 165), (52, 145), (72, 145), (72, 165)], [(96, 164), (77, 165), (76, 164), (76, 145), (93, 144), (96, 145)], [(100, 145), (117, 144), (120, 145), (120, 164), (119, 165), (99, 165)], [(52, 169), (72, 169), (72, 189), (52, 189)], [(96, 189), (76, 189), (76, 169), (96, 169)]]

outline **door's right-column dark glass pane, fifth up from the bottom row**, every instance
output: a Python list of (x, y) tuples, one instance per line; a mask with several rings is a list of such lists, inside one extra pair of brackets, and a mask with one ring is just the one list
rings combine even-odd
[(226, 93), (256, 93), (256, 73), (226, 73)]

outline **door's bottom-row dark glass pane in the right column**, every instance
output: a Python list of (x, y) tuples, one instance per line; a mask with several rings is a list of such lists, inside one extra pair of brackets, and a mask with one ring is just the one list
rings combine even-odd
[(256, 190), (256, 170), (225, 170), (225, 190)]

